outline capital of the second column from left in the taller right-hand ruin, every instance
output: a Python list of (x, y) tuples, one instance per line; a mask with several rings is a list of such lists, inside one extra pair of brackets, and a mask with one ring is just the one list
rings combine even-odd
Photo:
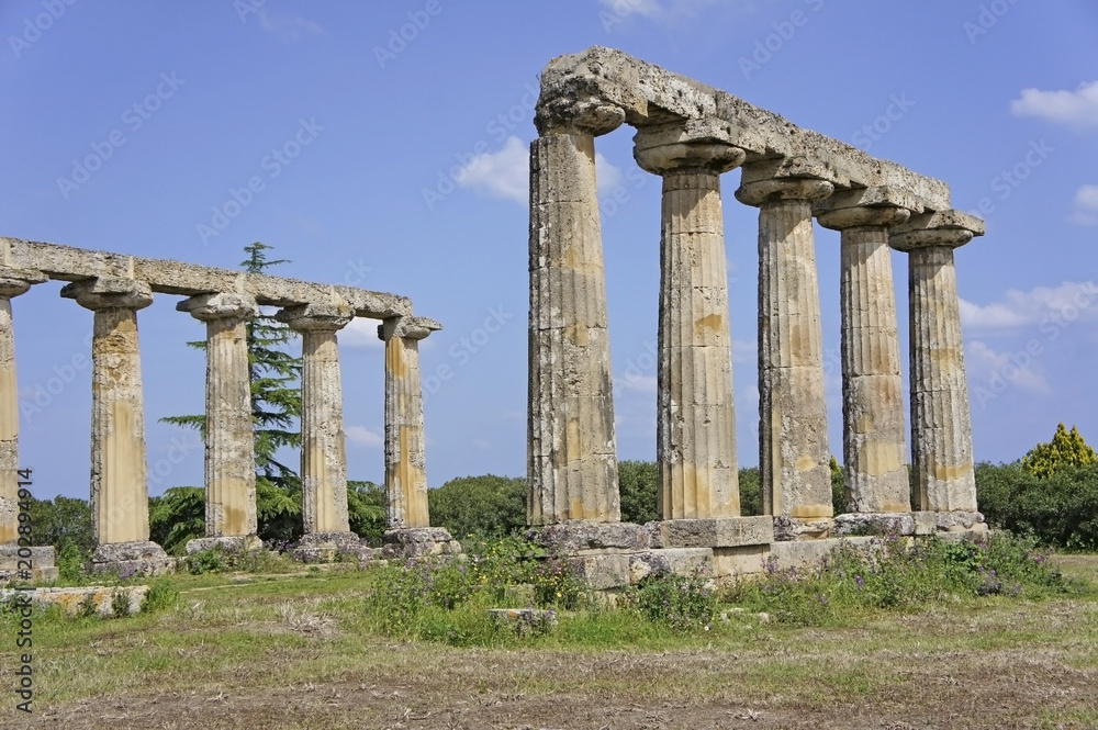
[(684, 120), (637, 130), (632, 157), (642, 170), (666, 176), (688, 169), (728, 172), (747, 153), (731, 143), (728, 122)]

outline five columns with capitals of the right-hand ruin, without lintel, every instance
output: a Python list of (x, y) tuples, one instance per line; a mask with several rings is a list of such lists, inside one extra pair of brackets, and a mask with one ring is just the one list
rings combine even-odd
[[(539, 110), (530, 148), (529, 520), (615, 521), (617, 479), (594, 137), (624, 112)], [(739, 516), (719, 176), (743, 165), (722, 122), (640, 127), (638, 165), (663, 179), (657, 459), (662, 519)], [(841, 232), (843, 454), (850, 512), (905, 513), (899, 342), (889, 248), (909, 254), (915, 503), (975, 512), (953, 248), (960, 213), (911, 215), (888, 189), (837, 191), (803, 162), (743, 167), (759, 209), (760, 471), (769, 515), (832, 516), (814, 216)], [(906, 202), (906, 201), (905, 201)], [(917, 204), (911, 204), (917, 209)]]

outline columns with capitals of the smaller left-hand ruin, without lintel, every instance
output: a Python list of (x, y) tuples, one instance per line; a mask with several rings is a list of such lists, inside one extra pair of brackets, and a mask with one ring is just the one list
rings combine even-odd
[[(0, 268), (0, 544), (16, 538), (18, 389), (11, 297), (46, 281)], [(98, 546), (148, 541), (148, 485), (137, 312), (153, 303), (147, 283), (101, 277), (66, 285), (61, 296), (94, 312), (92, 336), (91, 510)], [(247, 326), (259, 315), (250, 295), (191, 296), (177, 310), (206, 325), (205, 532), (257, 531)], [(347, 460), (337, 333), (354, 318), (346, 304), (300, 304), (276, 317), (302, 336), (301, 479), (306, 535), (349, 532)], [(392, 317), (385, 342), (388, 527), (429, 525), (418, 340), (439, 325)], [(116, 552), (116, 551), (115, 551)]]

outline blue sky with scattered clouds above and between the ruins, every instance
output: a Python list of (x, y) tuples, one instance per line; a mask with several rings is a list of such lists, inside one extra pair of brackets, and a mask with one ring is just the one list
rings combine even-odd
[[(537, 74), (620, 48), (950, 183), (987, 235), (957, 251), (978, 460), (1058, 422), (1098, 442), (1098, 3), (1093, 0), (190, 0), (0, 3), (0, 235), (406, 294), (428, 479), (522, 475), (526, 166)], [(618, 453), (656, 452), (660, 182), (601, 137)], [(94, 168), (94, 169), (92, 169)], [(250, 183), (250, 189), (249, 189)], [(758, 463), (757, 211), (724, 178), (738, 446)], [(841, 458), (838, 234), (817, 227), (831, 450)], [(907, 267), (894, 254), (906, 363)], [(13, 302), (35, 493), (87, 496), (90, 312)], [(203, 325), (142, 311), (150, 492), (201, 484)], [(348, 462), (382, 479), (374, 323), (340, 336)], [(906, 367), (905, 367), (906, 370)], [(448, 375), (439, 378), (439, 373)]]

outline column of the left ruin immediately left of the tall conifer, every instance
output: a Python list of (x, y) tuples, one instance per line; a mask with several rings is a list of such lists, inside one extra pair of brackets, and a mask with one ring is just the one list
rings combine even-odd
[(191, 540), (187, 550), (254, 547), (258, 525), (247, 323), (259, 307), (249, 295), (219, 293), (192, 296), (176, 308), (206, 324), (206, 537)]

